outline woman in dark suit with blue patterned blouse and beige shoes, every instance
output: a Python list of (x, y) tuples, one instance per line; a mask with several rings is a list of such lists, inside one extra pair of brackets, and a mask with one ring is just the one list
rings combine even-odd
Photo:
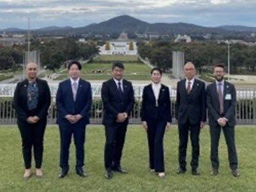
[(24, 178), (31, 176), (32, 147), (35, 158), (35, 176), (41, 178), (43, 159), (43, 137), (47, 111), (50, 106), (50, 88), (46, 81), (37, 78), (37, 64), (28, 63), (27, 78), (17, 84), (14, 93), (14, 108), (17, 125), (21, 133), (22, 151), (25, 162)]

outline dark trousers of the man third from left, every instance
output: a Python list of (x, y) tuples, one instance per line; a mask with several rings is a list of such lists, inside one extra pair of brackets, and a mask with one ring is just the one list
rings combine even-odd
[(121, 157), (127, 130), (127, 122), (105, 125), (104, 166), (106, 169), (121, 166)]

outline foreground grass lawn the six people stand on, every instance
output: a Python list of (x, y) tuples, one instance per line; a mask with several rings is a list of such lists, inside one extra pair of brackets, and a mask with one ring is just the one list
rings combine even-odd
[[(228, 168), (227, 150), (221, 135), (219, 175), (210, 175), (209, 130), (201, 131), (201, 157), (199, 177), (192, 176), (190, 167), (184, 175), (177, 175), (178, 135), (177, 128), (166, 133), (164, 138), (166, 177), (159, 179), (148, 170), (148, 146), (141, 126), (130, 126), (123, 151), (123, 168), (128, 175), (115, 173), (112, 180), (103, 176), (104, 129), (90, 125), (86, 131), (86, 159), (84, 169), (88, 178), (75, 174), (74, 144), (70, 151), (70, 172), (58, 179), (59, 130), (48, 126), (44, 137), (44, 177), (23, 180), (21, 138), (16, 126), (1, 126), (0, 129), (0, 191), (255, 191), (256, 189), (256, 129), (253, 126), (236, 128), (237, 152), (241, 177), (234, 178)], [(188, 149), (190, 159), (190, 147)], [(188, 161), (189, 164), (189, 161)]]

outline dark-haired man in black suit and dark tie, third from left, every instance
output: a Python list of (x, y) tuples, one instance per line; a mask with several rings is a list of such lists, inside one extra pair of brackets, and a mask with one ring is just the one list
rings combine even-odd
[(112, 178), (112, 171), (127, 173), (121, 168), (121, 156), (124, 146), (128, 117), (133, 109), (134, 95), (132, 83), (123, 79), (123, 62), (112, 66), (113, 78), (103, 82), (101, 98), (103, 99), (106, 143), (104, 149), (104, 166), (106, 178)]

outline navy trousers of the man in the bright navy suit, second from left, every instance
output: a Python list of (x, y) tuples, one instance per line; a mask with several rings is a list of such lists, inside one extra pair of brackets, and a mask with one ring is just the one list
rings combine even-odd
[(76, 164), (75, 169), (79, 171), (84, 166), (84, 142), (85, 142), (85, 132), (86, 126), (77, 126), (76, 124), (61, 125), (59, 126), (59, 133), (61, 136), (61, 154), (59, 166), (63, 171), (68, 171), (69, 164), (69, 149), (72, 140), (72, 135), (74, 135), (75, 144), (75, 156)]

